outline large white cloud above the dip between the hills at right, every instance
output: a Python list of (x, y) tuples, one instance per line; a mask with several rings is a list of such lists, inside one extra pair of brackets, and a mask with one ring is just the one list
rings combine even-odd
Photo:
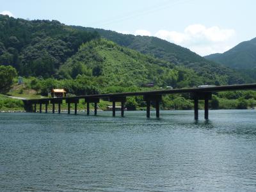
[(155, 36), (187, 47), (202, 56), (216, 52), (225, 52), (234, 44), (236, 31), (221, 29), (218, 26), (206, 28), (202, 24), (193, 24), (183, 32), (159, 30)]

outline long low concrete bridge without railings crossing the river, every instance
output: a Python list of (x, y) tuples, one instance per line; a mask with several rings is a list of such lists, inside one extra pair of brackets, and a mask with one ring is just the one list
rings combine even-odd
[(100, 99), (108, 99), (113, 104), (113, 116), (116, 115), (115, 103), (121, 102), (121, 116), (124, 116), (124, 105), (126, 97), (143, 96), (147, 104), (147, 118), (150, 117), (150, 104), (154, 103), (156, 107), (156, 116), (159, 118), (159, 103), (162, 100), (162, 95), (175, 93), (189, 93), (190, 99), (194, 100), (195, 120), (198, 119), (198, 100), (204, 100), (204, 117), (209, 118), (209, 100), (212, 98), (214, 92), (235, 91), (235, 90), (255, 90), (254, 84), (235, 84), (226, 86), (207, 86), (200, 88), (182, 88), (172, 90), (156, 90), (150, 92), (127, 92), (127, 93), (113, 93), (113, 94), (99, 94), (99, 95), (81, 95), (76, 97), (59, 97), (47, 99), (30, 99), (23, 100), (24, 108), (28, 112), (36, 112), (36, 104), (39, 104), (39, 111), (42, 113), (42, 104), (45, 104), (45, 113), (47, 113), (48, 104), (52, 104), (52, 113), (55, 111), (55, 105), (58, 104), (58, 113), (61, 112), (61, 104), (63, 100), (67, 103), (68, 114), (70, 114), (70, 104), (74, 104), (74, 114), (77, 114), (77, 103), (80, 99), (84, 99), (87, 104), (87, 115), (90, 115), (90, 103), (94, 103), (94, 115), (97, 115), (97, 104)]

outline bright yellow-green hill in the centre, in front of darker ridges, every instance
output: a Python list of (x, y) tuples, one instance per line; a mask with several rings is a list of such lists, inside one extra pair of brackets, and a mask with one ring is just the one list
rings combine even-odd
[[(141, 54), (109, 40), (97, 39), (83, 44), (79, 51), (60, 67), (62, 79), (91, 77), (99, 86), (160, 86), (192, 87), (200, 84), (243, 83), (235, 76), (211, 74), (198, 76), (189, 68)], [(99, 83), (100, 82), (100, 83)]]

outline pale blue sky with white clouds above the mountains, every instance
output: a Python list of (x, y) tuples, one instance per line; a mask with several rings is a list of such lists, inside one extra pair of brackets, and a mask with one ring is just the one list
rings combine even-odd
[(163, 38), (204, 56), (256, 37), (256, 1), (0, 0), (0, 13)]

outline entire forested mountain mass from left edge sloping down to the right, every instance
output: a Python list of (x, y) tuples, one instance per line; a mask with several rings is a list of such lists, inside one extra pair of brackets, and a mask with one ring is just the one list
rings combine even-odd
[(244, 83), (230, 68), (159, 38), (6, 15), (0, 15), (0, 65), (12, 65), (21, 76), (56, 79), (83, 76), (93, 86)]

